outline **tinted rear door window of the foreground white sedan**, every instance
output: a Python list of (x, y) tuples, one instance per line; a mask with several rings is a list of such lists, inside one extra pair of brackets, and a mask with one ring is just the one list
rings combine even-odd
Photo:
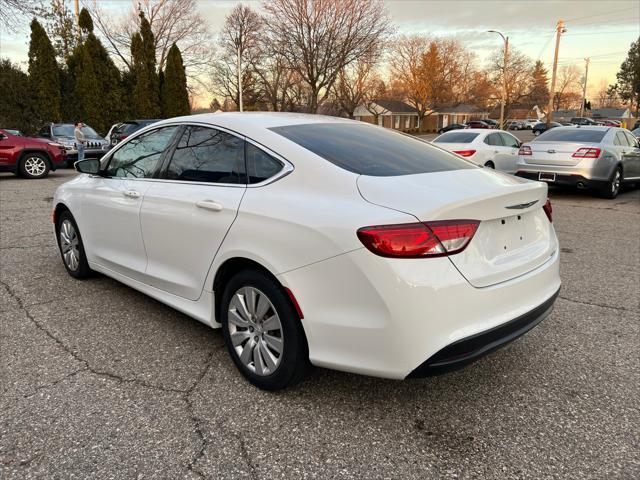
[(211, 183), (244, 183), (244, 141), (206, 127), (187, 127), (166, 177)]

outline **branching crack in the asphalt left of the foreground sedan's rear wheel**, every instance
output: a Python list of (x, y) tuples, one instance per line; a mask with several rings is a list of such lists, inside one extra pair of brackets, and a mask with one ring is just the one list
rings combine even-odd
[[(205, 367), (202, 369), (200, 374), (196, 377), (196, 379), (194, 380), (193, 384), (187, 389), (164, 387), (164, 386), (161, 386), (161, 385), (151, 384), (151, 383), (146, 382), (144, 380), (125, 378), (125, 377), (123, 377), (121, 375), (118, 375), (116, 373), (108, 372), (108, 371), (104, 371), (104, 370), (98, 370), (98, 369), (92, 367), (88, 360), (82, 358), (82, 356), (80, 356), (77, 352), (75, 352), (74, 350), (69, 348), (62, 340), (60, 340), (49, 329), (47, 329), (41, 322), (39, 322), (38, 320), (36, 320), (33, 317), (31, 312), (29, 312), (29, 310), (27, 308), (28, 306), (25, 305), (25, 303), (22, 300), (22, 298), (13, 290), (13, 288), (11, 288), (11, 286), (9, 284), (3, 282), (2, 280), (0, 280), (0, 284), (5, 288), (5, 290), (9, 294), (9, 296), (13, 300), (15, 300), (15, 302), (18, 304), (19, 309), (24, 312), (25, 316), (27, 317), (27, 319), (29, 319), (29, 321), (31, 321), (31, 323), (33, 323), (39, 330), (44, 332), (62, 350), (67, 352), (69, 355), (71, 355), (74, 360), (76, 360), (77, 362), (82, 364), (81, 368), (78, 368), (77, 370), (74, 370), (73, 372), (65, 375), (62, 378), (59, 378), (59, 379), (55, 380), (54, 382), (47, 383), (45, 385), (41, 385), (41, 386), (37, 387), (31, 393), (29, 393), (27, 395), (23, 395), (23, 398), (31, 398), (31, 397), (35, 396), (39, 391), (51, 388), (51, 387), (53, 387), (55, 385), (58, 385), (58, 384), (60, 384), (60, 383), (62, 383), (64, 381), (68, 380), (69, 378), (72, 378), (72, 377), (76, 376), (80, 372), (90, 372), (90, 373), (92, 373), (92, 374), (94, 374), (96, 376), (99, 376), (99, 377), (102, 377), (102, 378), (107, 378), (107, 379), (110, 379), (110, 380), (114, 380), (114, 381), (116, 381), (118, 383), (136, 384), (136, 385), (139, 385), (139, 386), (142, 386), (142, 387), (145, 387), (145, 388), (148, 388), (148, 389), (152, 389), (152, 390), (160, 390), (160, 391), (163, 391), (163, 392), (179, 394), (182, 397), (182, 400), (185, 402), (187, 413), (189, 415), (189, 418), (190, 418), (191, 422), (194, 425), (194, 431), (195, 431), (195, 433), (198, 436), (199, 441), (200, 441), (200, 448), (197, 449), (195, 455), (193, 455), (193, 457), (191, 458), (191, 460), (187, 464), (186, 468), (187, 468), (187, 470), (195, 473), (196, 475), (200, 476), (201, 478), (205, 478), (206, 477), (205, 474), (202, 473), (200, 470), (198, 470), (196, 468), (196, 466), (195, 466), (196, 463), (204, 456), (205, 450), (206, 450), (206, 448), (208, 446), (208, 441), (207, 441), (207, 439), (205, 437), (205, 434), (204, 434), (205, 429), (204, 429), (204, 426), (202, 424), (202, 419), (199, 418), (195, 413), (195, 408), (194, 408), (193, 402), (191, 400), (191, 394), (195, 391), (195, 389), (198, 387), (200, 382), (205, 378), (205, 376), (207, 375), (207, 373), (211, 369), (211, 367), (213, 365), (213, 358), (214, 358), (214, 355), (215, 355), (215, 351), (217, 350), (215, 347), (213, 348), (213, 350), (209, 354), (209, 357), (208, 357), (208, 359), (207, 359), (207, 361), (205, 363)], [(43, 303), (51, 303), (51, 301), (43, 302)], [(36, 304), (31, 304), (29, 306), (35, 306), (35, 305), (40, 305), (40, 304), (36, 303)], [(223, 345), (223, 347), (224, 347), (224, 345)], [(247, 463), (251, 467), (252, 471), (254, 471), (253, 465), (251, 464), (250, 460), (248, 460), (247, 452), (246, 452), (246, 450), (244, 448), (244, 443), (243, 443), (242, 440), (241, 440), (241, 453), (242, 453), (243, 457), (247, 459)]]

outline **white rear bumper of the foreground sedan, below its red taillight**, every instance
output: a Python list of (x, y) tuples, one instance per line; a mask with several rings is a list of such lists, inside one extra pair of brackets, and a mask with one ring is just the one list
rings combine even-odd
[[(553, 303), (560, 288), (559, 249), (556, 243), (538, 268), (482, 288), (469, 284), (446, 257), (387, 259), (366, 249), (278, 278), (304, 314), (313, 364), (404, 379), (425, 364), (432, 367), (430, 361), (458, 342), (480, 338), (482, 345), (459, 362), (443, 356), (445, 363), (468, 363), (542, 320), (547, 309), (537, 309)], [(488, 332), (502, 334), (491, 339)]]

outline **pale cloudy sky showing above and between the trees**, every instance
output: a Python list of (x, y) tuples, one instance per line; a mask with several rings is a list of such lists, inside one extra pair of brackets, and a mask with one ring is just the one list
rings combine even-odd
[[(132, 0), (101, 0), (107, 11), (129, 10)], [(72, 2), (69, 2), (72, 4)], [(80, 3), (83, 3), (81, 0)], [(239, 2), (199, 0), (198, 8), (212, 33), (219, 31), (224, 17)], [(259, 9), (260, 2), (245, 1)], [(398, 34), (421, 33), (453, 36), (473, 51), (482, 66), (488, 55), (501, 46), (498, 30), (516, 48), (533, 60), (542, 60), (551, 71), (555, 26), (565, 21), (559, 66), (575, 64), (584, 69), (590, 57), (587, 98), (595, 96), (602, 82), (615, 82), (631, 42), (640, 36), (638, 0), (385, 0)], [(21, 31), (0, 32), (0, 57), (8, 57), (26, 68), (28, 23)], [(202, 103), (207, 99), (203, 97)]]

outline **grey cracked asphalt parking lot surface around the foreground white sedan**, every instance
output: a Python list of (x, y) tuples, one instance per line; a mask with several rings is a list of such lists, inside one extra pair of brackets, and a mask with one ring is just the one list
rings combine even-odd
[(563, 288), (447, 375), (316, 370), (279, 393), (219, 331), (97, 276), (50, 221), (62, 170), (0, 175), (0, 478), (639, 478), (640, 191), (552, 191)]

